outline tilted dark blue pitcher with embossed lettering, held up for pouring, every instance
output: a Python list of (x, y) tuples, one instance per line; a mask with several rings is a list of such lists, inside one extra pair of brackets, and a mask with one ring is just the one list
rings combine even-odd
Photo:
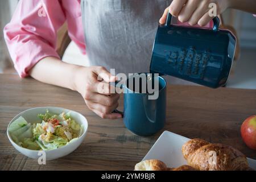
[(226, 84), (236, 49), (236, 37), (219, 30), (220, 20), (209, 28), (159, 24), (150, 64), (151, 73), (170, 75), (196, 84), (218, 88)]

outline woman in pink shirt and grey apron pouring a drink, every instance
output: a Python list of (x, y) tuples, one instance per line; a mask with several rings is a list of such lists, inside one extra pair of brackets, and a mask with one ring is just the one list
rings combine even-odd
[[(108, 70), (148, 72), (155, 23), (165, 23), (170, 12), (180, 22), (210, 27), (209, 3), (216, 3), (217, 14), (228, 8), (256, 13), (255, 0), (20, 0), (4, 33), (20, 77), (76, 90), (94, 113), (116, 119), (122, 117), (112, 113), (119, 95), (110, 94), (115, 77)], [(89, 67), (64, 63), (56, 53), (56, 31), (66, 20)]]

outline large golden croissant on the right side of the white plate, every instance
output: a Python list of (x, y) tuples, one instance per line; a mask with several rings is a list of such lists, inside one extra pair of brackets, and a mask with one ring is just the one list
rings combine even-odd
[(188, 165), (200, 171), (251, 170), (246, 156), (225, 144), (213, 144), (203, 139), (189, 140), (182, 146)]

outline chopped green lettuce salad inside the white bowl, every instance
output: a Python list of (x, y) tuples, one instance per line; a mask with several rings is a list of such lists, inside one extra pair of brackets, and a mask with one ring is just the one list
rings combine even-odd
[(69, 113), (59, 115), (38, 114), (41, 123), (28, 123), (19, 117), (9, 126), (9, 133), (16, 144), (31, 150), (52, 150), (65, 146), (82, 134), (80, 126)]

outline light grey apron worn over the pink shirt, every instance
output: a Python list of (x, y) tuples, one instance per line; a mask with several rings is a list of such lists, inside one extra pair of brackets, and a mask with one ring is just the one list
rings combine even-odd
[(114, 68), (115, 75), (148, 73), (158, 22), (170, 4), (171, 0), (82, 0), (89, 65)]

